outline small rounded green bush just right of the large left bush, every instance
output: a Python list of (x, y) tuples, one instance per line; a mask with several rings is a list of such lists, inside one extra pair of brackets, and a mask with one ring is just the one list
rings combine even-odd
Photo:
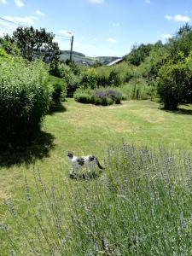
[(61, 102), (64, 102), (67, 95), (67, 87), (64, 79), (59, 79), (49, 75), (48, 83), (53, 87), (51, 96), (52, 102), (55, 104), (61, 104)]

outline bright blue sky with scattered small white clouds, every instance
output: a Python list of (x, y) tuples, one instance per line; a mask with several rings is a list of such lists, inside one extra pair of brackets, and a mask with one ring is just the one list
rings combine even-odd
[(135, 44), (166, 43), (191, 25), (192, 0), (0, 0), (0, 36), (17, 25), (44, 27), (60, 49), (123, 56)]

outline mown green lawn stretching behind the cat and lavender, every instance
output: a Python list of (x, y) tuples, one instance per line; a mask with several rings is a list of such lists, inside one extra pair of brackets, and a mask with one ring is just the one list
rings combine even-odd
[[(43, 132), (27, 148), (0, 155), (0, 218), (2, 223), (16, 227), (15, 219), (9, 217), (3, 201), (14, 201), (20, 218), (26, 214), (24, 200), (25, 177), (32, 185), (32, 168), (41, 170), (42, 178), (60, 186), (61, 177), (68, 180), (70, 166), (66, 152), (75, 154), (96, 154), (103, 164), (108, 147), (122, 140), (138, 146), (165, 148), (177, 151), (189, 150), (192, 145), (192, 108), (181, 106), (176, 113), (159, 108), (159, 103), (150, 101), (129, 101), (110, 107), (84, 105), (67, 99), (63, 108), (49, 113), (44, 119)], [(32, 207), (36, 207), (33, 205)], [(17, 227), (18, 228), (18, 227)], [(16, 228), (15, 228), (16, 229)], [(1, 232), (1, 230), (0, 230)], [(9, 241), (2, 236), (3, 253)], [(1, 249), (0, 249), (1, 250)]]

